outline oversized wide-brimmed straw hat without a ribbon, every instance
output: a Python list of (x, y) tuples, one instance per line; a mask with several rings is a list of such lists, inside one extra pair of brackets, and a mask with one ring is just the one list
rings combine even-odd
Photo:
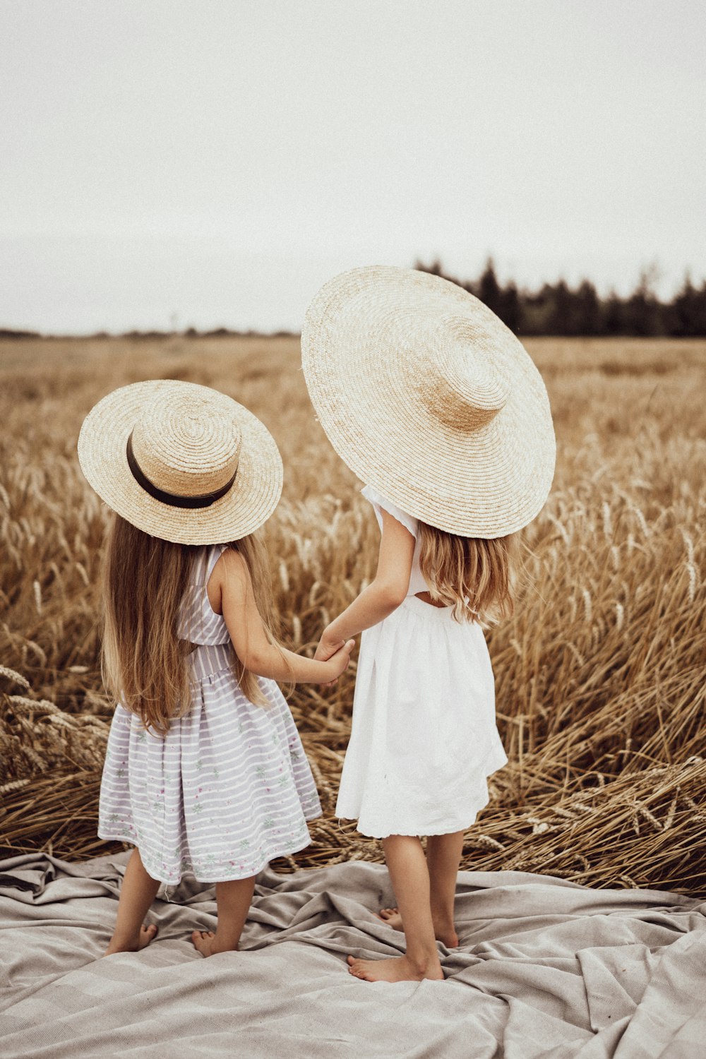
[(336, 451), (409, 515), (503, 537), (544, 504), (556, 455), (544, 383), (456, 284), (387, 266), (344, 272), (309, 306), (302, 360)]

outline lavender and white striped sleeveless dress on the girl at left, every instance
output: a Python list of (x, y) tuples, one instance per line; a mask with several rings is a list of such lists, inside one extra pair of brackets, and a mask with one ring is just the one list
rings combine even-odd
[(101, 784), (98, 836), (130, 842), (153, 879), (177, 883), (256, 875), (268, 861), (311, 841), (306, 821), (321, 815), (316, 787), (282, 692), (259, 678), (269, 700), (240, 689), (225, 622), (205, 586), (225, 545), (204, 548), (182, 607), (192, 707), (164, 738), (117, 705)]

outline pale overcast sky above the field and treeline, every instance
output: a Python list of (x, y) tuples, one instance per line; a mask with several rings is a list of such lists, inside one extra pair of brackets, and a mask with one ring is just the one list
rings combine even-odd
[(0, 326), (298, 329), (439, 255), (706, 274), (701, 0), (0, 0)]

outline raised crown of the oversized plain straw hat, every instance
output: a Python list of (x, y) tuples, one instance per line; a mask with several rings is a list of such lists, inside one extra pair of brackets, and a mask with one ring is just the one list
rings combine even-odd
[(505, 408), (509, 382), (499, 366), (497, 329), (483, 319), (441, 321), (419, 380), (436, 418), (461, 431), (478, 430)]

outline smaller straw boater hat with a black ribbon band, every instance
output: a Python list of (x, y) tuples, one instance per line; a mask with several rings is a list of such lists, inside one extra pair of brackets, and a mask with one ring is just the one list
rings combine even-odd
[(282, 459), (259, 419), (217, 390), (174, 379), (98, 401), (80, 429), (78, 460), (109, 507), (181, 544), (246, 537), (282, 492)]

